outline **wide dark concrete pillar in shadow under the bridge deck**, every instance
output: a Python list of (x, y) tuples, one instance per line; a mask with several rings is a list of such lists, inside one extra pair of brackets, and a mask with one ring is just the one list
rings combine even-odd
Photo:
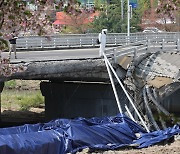
[[(41, 82), (40, 89), (45, 97), (46, 120), (103, 117), (119, 113), (110, 84)], [(124, 104), (127, 99), (119, 86), (117, 90)]]

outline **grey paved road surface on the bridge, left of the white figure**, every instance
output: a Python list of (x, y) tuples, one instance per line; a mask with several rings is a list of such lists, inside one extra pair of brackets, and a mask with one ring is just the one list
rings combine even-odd
[[(18, 59), (14, 59), (11, 54), (11, 61), (38, 61), (38, 60), (60, 60), (60, 59), (80, 59), (98, 57), (99, 48), (86, 49), (66, 49), (66, 50), (46, 50), (46, 51), (17, 51)], [(7, 57), (8, 52), (3, 52), (2, 57)]]

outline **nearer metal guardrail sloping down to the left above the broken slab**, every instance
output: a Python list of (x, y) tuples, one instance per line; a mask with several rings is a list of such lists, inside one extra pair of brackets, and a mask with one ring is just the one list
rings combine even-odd
[(121, 56), (134, 56), (145, 53), (154, 53), (157, 51), (179, 51), (180, 52), (180, 38), (156, 38), (144, 41), (134, 42), (121, 47), (111, 48), (105, 50), (106, 55), (113, 56), (115, 62)]

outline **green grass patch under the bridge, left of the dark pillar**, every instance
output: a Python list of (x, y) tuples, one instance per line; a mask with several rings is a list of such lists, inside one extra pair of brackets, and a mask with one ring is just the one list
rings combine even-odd
[(31, 107), (44, 105), (44, 97), (40, 90), (3, 90), (2, 107), (13, 110), (29, 110)]

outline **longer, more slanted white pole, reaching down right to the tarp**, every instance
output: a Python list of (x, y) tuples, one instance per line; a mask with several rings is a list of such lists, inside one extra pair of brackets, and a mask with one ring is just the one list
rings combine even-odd
[[(148, 127), (146, 126), (144, 120), (142, 119), (142, 117), (141, 117), (139, 111), (137, 110), (136, 106), (134, 105), (134, 103), (133, 103), (131, 97), (130, 97), (129, 94), (127, 93), (127, 91), (126, 91), (124, 85), (123, 85), (122, 82), (120, 81), (120, 79), (119, 79), (119, 77), (117, 76), (115, 70), (113, 69), (113, 67), (111, 66), (109, 60), (107, 59), (105, 53), (103, 53), (103, 55), (104, 55), (105, 62), (107, 62), (107, 64), (108, 64), (109, 67), (111, 68), (113, 74), (115, 75), (116, 79), (118, 80), (118, 82), (119, 82), (121, 88), (123, 89), (124, 93), (126, 94), (128, 100), (129, 100), (129, 102), (131, 103), (132, 107), (134, 108), (135, 112), (137, 113), (137, 115), (138, 115), (139, 119), (141, 120), (143, 126), (145, 127), (146, 131), (147, 131), (147, 132), (150, 132), (149, 129), (148, 129)], [(109, 68), (109, 67), (107, 67), (107, 68)]]

